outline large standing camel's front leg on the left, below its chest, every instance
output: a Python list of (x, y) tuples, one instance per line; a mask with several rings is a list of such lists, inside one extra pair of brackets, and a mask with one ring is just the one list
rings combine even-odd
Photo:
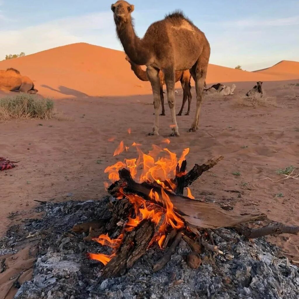
[(159, 109), (160, 109), (160, 78), (158, 76), (159, 70), (151, 66), (147, 67), (147, 77), (149, 78), (152, 86), (152, 94), (154, 96), (154, 108), (155, 108), (155, 122), (152, 128), (152, 132), (149, 135), (159, 135)]

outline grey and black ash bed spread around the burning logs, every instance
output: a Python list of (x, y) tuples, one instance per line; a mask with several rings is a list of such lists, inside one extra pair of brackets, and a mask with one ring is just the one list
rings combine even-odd
[(86, 234), (70, 231), (73, 225), (109, 219), (112, 197), (100, 201), (46, 203), (37, 210), (42, 219), (28, 219), (14, 226), (0, 240), (0, 253), (15, 252), (25, 237), (36, 234), (39, 253), (33, 279), (23, 283), (15, 299), (155, 299), (213, 298), (261, 299), (299, 298), (299, 271), (279, 249), (265, 238), (254, 243), (240, 237), (233, 229), (213, 234), (223, 255), (201, 254), (202, 265), (194, 270), (187, 266), (190, 248), (181, 240), (167, 265), (157, 273), (152, 266), (163, 255), (150, 248), (135, 265), (120, 277), (103, 279), (103, 265), (86, 257), (86, 252), (109, 254), (109, 248), (95, 242), (83, 242)]

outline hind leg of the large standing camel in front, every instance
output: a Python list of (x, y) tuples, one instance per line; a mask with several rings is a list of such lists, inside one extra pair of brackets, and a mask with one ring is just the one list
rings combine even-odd
[[(203, 56), (203, 55), (202, 55)], [(207, 75), (208, 60), (205, 57), (199, 57), (196, 64), (193, 65), (190, 72), (195, 81), (196, 88), (196, 113), (189, 132), (195, 132), (199, 126), (199, 115), (203, 101), (203, 89), (205, 84), (205, 77)]]

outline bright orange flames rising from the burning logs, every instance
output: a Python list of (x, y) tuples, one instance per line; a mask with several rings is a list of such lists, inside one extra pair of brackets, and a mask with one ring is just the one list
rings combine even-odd
[[(165, 143), (169, 144), (168, 141), (165, 141)], [(152, 242), (157, 242), (160, 248), (163, 248), (167, 231), (170, 228), (179, 230), (185, 226), (184, 221), (174, 210), (173, 203), (170, 200), (170, 194), (176, 189), (174, 178), (178, 175), (176, 174), (177, 166), (179, 165), (179, 167), (181, 167), (182, 162), (189, 153), (189, 148), (184, 149), (180, 158), (178, 158), (176, 153), (171, 152), (167, 148), (153, 145), (152, 149), (146, 154), (141, 151), (140, 146), (141, 144), (135, 142), (132, 144), (132, 147), (136, 148), (138, 157), (118, 161), (106, 167), (105, 173), (108, 174), (110, 181), (115, 182), (119, 180), (118, 171), (122, 168), (127, 168), (135, 181), (139, 181), (140, 183), (155, 182), (160, 185), (161, 188), (158, 189), (157, 187), (157, 189), (150, 191), (150, 200), (146, 200), (137, 194), (126, 193), (123, 188), (120, 188), (116, 197), (119, 199), (126, 197), (132, 203), (132, 210), (123, 227), (123, 232), (117, 239), (111, 239), (108, 234), (93, 238), (94, 241), (101, 245), (111, 247), (111, 255), (89, 254), (90, 258), (99, 260), (104, 265), (115, 256), (117, 249), (123, 241), (124, 233), (126, 231), (132, 231), (145, 219), (154, 223), (157, 228), (149, 245), (151, 245)], [(121, 141), (114, 155), (123, 152), (124, 148), (123, 141)], [(179, 175), (183, 174), (184, 173), (179, 173)], [(107, 184), (106, 187), (108, 187)], [(190, 189), (187, 188), (187, 190), (188, 197), (194, 199)]]

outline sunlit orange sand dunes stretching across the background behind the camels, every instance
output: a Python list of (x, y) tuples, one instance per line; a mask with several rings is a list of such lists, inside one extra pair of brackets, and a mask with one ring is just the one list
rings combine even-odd
[[(30, 77), (39, 94), (58, 99), (151, 94), (150, 83), (142, 82), (135, 76), (125, 60), (124, 52), (86, 43), (0, 61), (0, 69), (10, 67)], [(206, 82), (292, 79), (299, 79), (299, 62), (283, 60), (270, 68), (254, 72), (210, 64)], [(180, 88), (179, 83), (176, 86)]]

